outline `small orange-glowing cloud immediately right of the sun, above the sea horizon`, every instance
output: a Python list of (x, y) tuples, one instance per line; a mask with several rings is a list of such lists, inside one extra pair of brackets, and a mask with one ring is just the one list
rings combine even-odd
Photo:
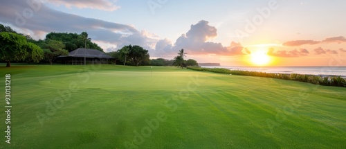
[(309, 51), (307, 49), (297, 49), (291, 50), (291, 51), (284, 51), (284, 50), (279, 50), (275, 51), (274, 48), (268, 49), (267, 55), (271, 56), (276, 56), (276, 57), (282, 57), (282, 58), (296, 58), (300, 56), (307, 56), (309, 54)]

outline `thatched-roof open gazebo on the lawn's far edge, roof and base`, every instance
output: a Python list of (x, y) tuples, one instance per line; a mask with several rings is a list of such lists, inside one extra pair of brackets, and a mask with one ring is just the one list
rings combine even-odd
[(79, 48), (71, 51), (69, 55), (57, 57), (62, 64), (109, 64), (111, 56), (95, 49)]

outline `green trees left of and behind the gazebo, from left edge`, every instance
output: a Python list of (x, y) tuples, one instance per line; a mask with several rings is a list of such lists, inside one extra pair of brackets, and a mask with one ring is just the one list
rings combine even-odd
[(10, 26), (0, 24), (0, 60), (6, 62), (34, 62), (40, 61), (53, 64), (60, 55), (69, 55), (69, 52), (78, 48), (97, 49), (103, 51), (98, 44), (91, 42), (88, 33), (48, 33), (44, 40), (34, 40), (30, 35), (23, 35), (12, 30)]

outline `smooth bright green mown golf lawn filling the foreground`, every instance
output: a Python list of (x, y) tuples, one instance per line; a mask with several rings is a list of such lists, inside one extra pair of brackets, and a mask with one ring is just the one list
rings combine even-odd
[(343, 87), (176, 67), (0, 72), (2, 82), (11, 74), (12, 102), (0, 148), (346, 148)]

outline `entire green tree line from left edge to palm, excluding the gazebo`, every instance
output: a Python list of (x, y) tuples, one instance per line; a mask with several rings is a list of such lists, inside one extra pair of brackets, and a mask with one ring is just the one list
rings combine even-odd
[[(69, 52), (78, 49), (102, 48), (91, 42), (88, 33), (48, 33), (44, 40), (34, 40), (30, 35), (23, 35), (12, 30), (10, 26), (0, 24), (0, 60), (6, 62), (6, 67), (10, 67), (10, 62), (38, 63), (41, 61), (53, 64), (55, 59), (61, 55), (69, 55)], [(173, 60), (157, 58), (150, 60), (146, 49), (138, 45), (123, 46), (118, 51), (107, 53), (115, 58), (115, 64), (132, 66), (152, 65), (152, 66), (198, 66), (196, 60), (184, 60), (186, 54), (181, 49)]]

